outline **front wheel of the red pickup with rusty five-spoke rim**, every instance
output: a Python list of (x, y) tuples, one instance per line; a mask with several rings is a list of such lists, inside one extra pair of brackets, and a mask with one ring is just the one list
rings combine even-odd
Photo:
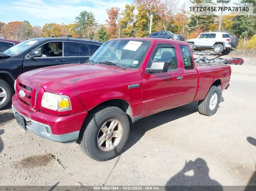
[(130, 124), (125, 112), (118, 107), (102, 106), (86, 117), (79, 142), (90, 158), (108, 161), (121, 153), (129, 132)]

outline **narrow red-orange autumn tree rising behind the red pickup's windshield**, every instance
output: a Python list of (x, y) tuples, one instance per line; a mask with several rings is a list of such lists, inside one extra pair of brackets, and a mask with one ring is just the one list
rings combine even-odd
[(110, 9), (107, 9), (108, 19), (107, 22), (107, 30), (108, 34), (110, 36), (110, 39), (113, 39), (116, 37), (117, 31), (118, 31), (118, 25), (117, 25), (117, 19), (119, 14), (119, 8), (112, 7)]

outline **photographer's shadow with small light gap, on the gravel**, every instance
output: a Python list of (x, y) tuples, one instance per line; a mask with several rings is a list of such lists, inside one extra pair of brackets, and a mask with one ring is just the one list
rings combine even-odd
[[(187, 175), (186, 173), (190, 174), (188, 171), (191, 170), (194, 171), (194, 175)], [(209, 168), (202, 158), (185, 162), (183, 169), (168, 180), (165, 188), (166, 190), (223, 190), (220, 183), (209, 177)]]

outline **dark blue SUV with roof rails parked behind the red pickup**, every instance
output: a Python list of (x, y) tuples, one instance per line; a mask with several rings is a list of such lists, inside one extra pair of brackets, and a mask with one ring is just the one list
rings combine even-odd
[(18, 75), (46, 66), (85, 63), (103, 44), (90, 38), (55, 37), (26, 40), (0, 52), (0, 109), (11, 104)]

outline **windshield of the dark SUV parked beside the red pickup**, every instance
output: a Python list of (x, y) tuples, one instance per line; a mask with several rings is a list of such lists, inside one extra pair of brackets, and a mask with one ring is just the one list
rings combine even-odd
[(3, 53), (8, 54), (10, 56), (16, 56), (22, 53), (23, 51), (29, 49), (31, 46), (34, 46), (35, 44), (38, 44), (38, 40), (36, 39), (26, 40), (15, 46), (12, 46), (11, 48), (5, 50)]

